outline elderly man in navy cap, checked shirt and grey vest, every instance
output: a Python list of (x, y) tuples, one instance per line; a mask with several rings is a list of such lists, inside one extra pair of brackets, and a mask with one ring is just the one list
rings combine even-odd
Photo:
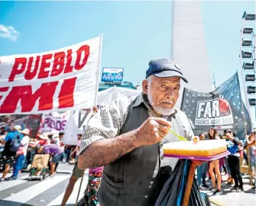
[(177, 159), (164, 158), (163, 143), (191, 139), (193, 131), (174, 108), (183, 77), (179, 66), (164, 58), (151, 60), (134, 101), (112, 101), (93, 116), (83, 135), (79, 168), (104, 166), (98, 200), (108, 205), (154, 205)]

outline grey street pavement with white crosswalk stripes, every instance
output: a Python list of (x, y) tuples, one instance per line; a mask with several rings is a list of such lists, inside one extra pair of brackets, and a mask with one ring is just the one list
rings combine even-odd
[[(57, 174), (48, 176), (44, 181), (28, 182), (28, 173), (22, 172), (17, 180), (0, 183), (0, 206), (57, 206), (60, 205), (66, 186), (69, 182), (73, 165), (61, 163)], [(2, 173), (0, 173), (2, 175)], [(8, 174), (10, 176), (11, 173)], [(225, 179), (225, 178), (224, 178)], [(76, 203), (81, 179), (76, 182), (73, 194), (67, 201), (68, 206)], [(88, 181), (88, 170), (86, 170), (79, 200), (83, 198), (83, 191)], [(248, 185), (248, 176), (243, 176), (245, 192), (231, 192), (230, 186), (222, 184), (222, 195), (210, 196), (213, 206), (251, 206), (255, 205), (255, 189)], [(209, 180), (207, 184), (210, 185)]]

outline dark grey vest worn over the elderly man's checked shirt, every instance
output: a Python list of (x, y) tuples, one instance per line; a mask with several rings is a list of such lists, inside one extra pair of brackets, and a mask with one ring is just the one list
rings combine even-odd
[[(144, 104), (134, 108), (131, 105), (120, 134), (140, 127), (149, 117)], [(154, 205), (158, 177), (153, 178), (153, 175), (158, 158), (159, 144), (156, 143), (141, 146), (104, 166), (98, 192), (98, 200), (102, 206)]]

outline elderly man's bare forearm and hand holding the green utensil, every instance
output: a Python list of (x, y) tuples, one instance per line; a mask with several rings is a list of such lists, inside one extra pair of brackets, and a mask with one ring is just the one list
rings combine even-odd
[(160, 142), (169, 130), (170, 122), (167, 120), (149, 117), (138, 129), (92, 143), (79, 155), (78, 166), (87, 169), (108, 165), (140, 146)]

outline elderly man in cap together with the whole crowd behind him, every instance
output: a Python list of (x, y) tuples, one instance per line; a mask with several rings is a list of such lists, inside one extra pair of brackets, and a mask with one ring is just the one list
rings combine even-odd
[[(92, 114), (83, 137), (77, 135), (76, 146), (65, 145), (63, 133), (37, 134), (30, 138), (28, 128), (21, 130), (21, 126), (16, 125), (13, 130), (5, 131), (2, 127), (0, 160), (4, 172), (0, 180), (17, 179), (22, 168), (29, 169), (36, 153), (47, 153), (50, 154), (50, 175), (55, 174), (63, 159), (75, 163), (61, 205), (66, 204), (85, 169), (89, 169), (86, 204), (155, 205), (177, 164), (177, 159), (164, 158), (163, 143), (177, 142), (178, 135), (187, 140), (194, 137), (186, 114), (174, 108), (179, 97), (180, 79), (187, 82), (180, 67), (171, 60), (151, 60), (142, 82), (143, 92), (133, 101), (130, 97), (118, 98), (100, 112), (93, 108), (93, 114), (97, 114)], [(174, 134), (169, 133), (170, 127)], [(209, 188), (213, 195), (220, 195), (222, 172), (225, 171), (228, 174), (226, 182), (234, 182), (232, 190), (243, 191), (240, 163), (241, 158), (245, 159), (254, 174), (255, 130), (239, 140), (232, 130), (225, 130), (220, 135), (212, 127), (208, 134), (200, 134), (199, 138), (224, 139), (230, 153), (198, 166), (199, 188)], [(245, 152), (245, 147), (249, 153)], [(6, 179), (12, 166), (13, 174)], [(104, 166), (103, 172), (99, 166)], [(206, 185), (207, 173), (212, 180), (211, 186)]]

